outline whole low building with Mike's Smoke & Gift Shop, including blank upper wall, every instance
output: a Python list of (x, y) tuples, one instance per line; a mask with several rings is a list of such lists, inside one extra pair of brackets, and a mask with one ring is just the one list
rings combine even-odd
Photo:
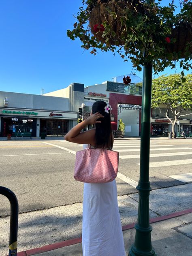
[(64, 136), (77, 124), (77, 111), (70, 105), (64, 97), (0, 92), (0, 136)]

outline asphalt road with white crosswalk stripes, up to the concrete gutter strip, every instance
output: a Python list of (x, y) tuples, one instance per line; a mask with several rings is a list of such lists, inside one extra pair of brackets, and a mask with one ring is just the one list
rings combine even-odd
[[(64, 140), (0, 141), (0, 186), (16, 194), (19, 213), (82, 202), (83, 183), (73, 178), (75, 152), (81, 149)], [(137, 192), (140, 140), (115, 140), (113, 149), (120, 156), (118, 195)], [(152, 139), (151, 187), (183, 184), (169, 176), (191, 173), (191, 156), (192, 139)], [(0, 195), (0, 216), (9, 214), (9, 201)]]

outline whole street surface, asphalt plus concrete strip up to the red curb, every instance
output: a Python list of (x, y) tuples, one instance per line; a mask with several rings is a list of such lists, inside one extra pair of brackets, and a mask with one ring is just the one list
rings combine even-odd
[[(139, 138), (114, 143), (120, 156), (117, 190), (122, 225), (137, 220), (139, 145)], [(60, 139), (1, 141), (1, 186), (15, 192), (19, 212), (26, 212), (19, 214), (18, 251), (81, 236), (83, 184), (73, 179), (75, 152), (81, 148)], [(191, 154), (192, 139), (151, 139), (150, 218), (192, 207)], [(0, 200), (1, 215), (9, 215), (8, 200), (3, 196)], [(9, 217), (1, 218), (0, 226), (4, 253)]]

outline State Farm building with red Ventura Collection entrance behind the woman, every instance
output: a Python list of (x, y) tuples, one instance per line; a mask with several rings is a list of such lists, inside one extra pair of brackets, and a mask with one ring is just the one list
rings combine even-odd
[(134, 83), (106, 81), (99, 85), (91, 85), (84, 89), (83, 114), (90, 115), (91, 107), (97, 100), (110, 104), (111, 125), (113, 130), (118, 129), (119, 119), (125, 124), (125, 136), (139, 136), (141, 133), (141, 94), (142, 88)]

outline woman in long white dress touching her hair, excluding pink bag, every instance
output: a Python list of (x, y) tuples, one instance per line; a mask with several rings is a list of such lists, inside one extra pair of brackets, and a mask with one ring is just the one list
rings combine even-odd
[[(90, 117), (73, 127), (66, 135), (66, 141), (82, 143), (87, 148), (112, 149), (110, 106), (96, 101)], [(95, 128), (81, 132), (87, 125)], [(113, 180), (108, 183), (84, 183), (83, 192), (83, 256), (125, 256), (122, 225), (117, 204), (117, 186)]]

